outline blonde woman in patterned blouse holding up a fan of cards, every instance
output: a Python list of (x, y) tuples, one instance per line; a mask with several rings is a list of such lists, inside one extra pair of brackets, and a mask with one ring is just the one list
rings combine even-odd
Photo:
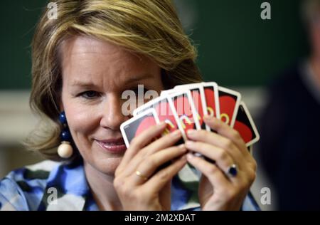
[[(1, 181), (0, 208), (17, 210), (239, 210), (255, 160), (235, 130), (205, 122), (217, 133), (180, 132), (154, 140), (149, 127), (126, 150), (119, 126), (124, 90), (169, 89), (197, 83), (196, 50), (169, 0), (56, 1), (58, 18), (43, 13), (33, 38), (31, 108), (43, 118), (27, 144), (48, 159)], [(59, 121), (60, 117), (60, 121)], [(61, 133), (61, 135), (60, 135)], [(63, 142), (60, 145), (60, 141)], [(57, 147), (60, 145), (57, 151)], [(72, 147), (71, 147), (72, 146)], [(194, 157), (199, 152), (208, 159)], [(72, 156), (71, 156), (72, 155)], [(70, 157), (71, 156), (71, 157)], [(210, 161), (210, 162), (209, 162)], [(159, 169), (161, 164), (172, 162)], [(192, 164), (200, 181), (176, 176)], [(230, 165), (237, 164), (234, 176)], [(184, 174), (186, 177), (186, 174)], [(188, 176), (187, 176), (188, 178)], [(191, 185), (199, 182), (198, 192)]]

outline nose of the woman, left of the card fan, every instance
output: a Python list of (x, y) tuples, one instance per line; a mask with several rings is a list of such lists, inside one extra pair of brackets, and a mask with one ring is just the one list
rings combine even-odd
[(103, 102), (100, 126), (110, 130), (119, 130), (122, 122), (130, 117), (122, 113), (123, 100), (118, 95), (110, 94)]

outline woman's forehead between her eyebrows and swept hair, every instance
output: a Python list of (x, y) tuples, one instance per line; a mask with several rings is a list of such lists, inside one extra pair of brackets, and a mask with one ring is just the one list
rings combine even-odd
[(121, 83), (129, 78), (160, 70), (146, 56), (87, 36), (74, 36), (63, 41), (60, 57), (64, 81), (110, 83), (117, 80)]

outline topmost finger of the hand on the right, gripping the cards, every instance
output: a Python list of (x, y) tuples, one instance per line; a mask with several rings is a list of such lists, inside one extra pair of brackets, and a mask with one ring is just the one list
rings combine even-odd
[(218, 120), (215, 117), (207, 115), (203, 117), (203, 120), (211, 129), (218, 132), (218, 134), (223, 135), (224, 137), (228, 137), (230, 140), (232, 140), (235, 143), (235, 145), (237, 145), (242, 154), (245, 155), (245, 157), (250, 155), (247, 151), (247, 147), (245, 146), (244, 140), (242, 139), (237, 130), (234, 130), (225, 122)]

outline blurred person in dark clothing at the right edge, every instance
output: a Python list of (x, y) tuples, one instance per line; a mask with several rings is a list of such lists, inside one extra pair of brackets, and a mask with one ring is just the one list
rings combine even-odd
[(278, 209), (320, 209), (320, 0), (302, 3), (310, 55), (268, 88), (261, 161)]

